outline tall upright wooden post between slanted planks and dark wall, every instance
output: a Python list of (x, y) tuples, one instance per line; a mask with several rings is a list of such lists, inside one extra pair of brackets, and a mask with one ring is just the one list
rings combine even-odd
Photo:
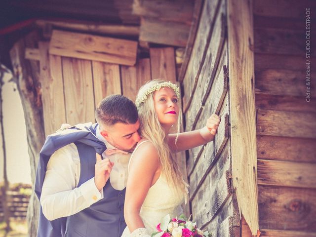
[(233, 186), (252, 235), (259, 230), (252, 0), (228, 0)]

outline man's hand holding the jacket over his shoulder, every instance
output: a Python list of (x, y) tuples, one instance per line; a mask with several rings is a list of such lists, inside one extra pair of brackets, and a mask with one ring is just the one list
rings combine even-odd
[(109, 158), (102, 159), (102, 157), (96, 153), (94, 183), (100, 192), (110, 178), (113, 165), (114, 163), (111, 162)]

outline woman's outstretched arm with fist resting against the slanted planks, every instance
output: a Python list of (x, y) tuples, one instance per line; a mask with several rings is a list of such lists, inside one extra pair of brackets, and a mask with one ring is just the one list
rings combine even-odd
[(175, 142), (177, 134), (169, 134), (169, 147), (174, 152), (181, 152), (213, 141), (220, 121), (221, 118), (213, 114), (207, 119), (203, 128), (179, 133), (177, 142)]

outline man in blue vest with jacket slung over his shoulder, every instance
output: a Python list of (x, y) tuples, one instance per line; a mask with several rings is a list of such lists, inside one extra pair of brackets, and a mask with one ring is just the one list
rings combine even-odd
[(128, 98), (111, 95), (95, 117), (95, 124), (46, 138), (35, 184), (38, 237), (120, 237), (126, 227), (127, 165), (140, 140), (137, 109)]

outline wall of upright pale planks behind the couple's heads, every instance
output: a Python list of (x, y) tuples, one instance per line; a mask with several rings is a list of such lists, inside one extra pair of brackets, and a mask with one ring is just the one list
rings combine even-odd
[[(97, 104), (108, 95), (123, 94), (134, 101), (139, 87), (152, 78), (163, 78), (176, 82), (175, 49), (173, 47), (149, 48), (149, 57), (138, 58), (136, 61), (135, 45), (137, 46), (137, 41), (135, 44), (135, 41), (124, 40), (124, 44), (132, 43), (131, 48), (125, 47), (126, 54), (129, 55), (127, 61), (127, 57), (118, 54), (114, 59), (107, 59), (107, 56), (104, 56), (103, 62), (101, 62), (98, 60), (100, 56), (93, 54), (100, 53), (100, 50), (96, 50), (95, 45), (106, 38), (66, 33), (67, 36), (75, 34), (75, 40), (82, 37), (79, 42), (88, 41), (88, 45), (80, 46), (80, 43), (73, 43), (76, 46), (72, 44), (67, 46), (58, 41), (65, 38), (54, 38), (54, 33), (52, 35), (53, 43), (39, 41), (38, 48), (27, 48), (25, 53), (27, 59), (40, 61), (46, 136), (55, 132), (62, 123), (74, 125), (82, 122), (94, 122), (94, 111)], [(64, 35), (64, 32), (57, 31), (57, 33)], [(65, 42), (68, 41), (65, 40)], [(119, 47), (118, 41), (115, 40), (117, 45), (113, 48)], [(89, 47), (90, 43), (94, 48)], [(65, 47), (65, 50), (59, 51), (61, 47)], [(82, 49), (79, 50), (78, 47)], [(120, 53), (122, 53), (121, 48)], [(108, 49), (111, 50), (111, 47)], [(134, 55), (132, 55), (133, 52)], [(87, 55), (86, 58), (85, 55)], [(112, 52), (110, 56), (113, 55)], [(133, 57), (134, 59), (132, 59)], [(133, 64), (133, 60), (135, 65), (126, 65)], [(119, 62), (125, 65), (118, 64)]]

